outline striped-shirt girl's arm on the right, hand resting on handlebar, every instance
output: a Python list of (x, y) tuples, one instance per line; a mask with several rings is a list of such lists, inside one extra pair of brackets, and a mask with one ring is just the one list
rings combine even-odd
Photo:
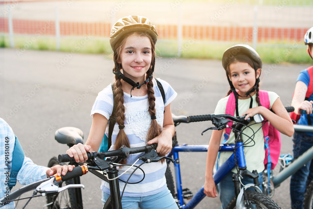
[(157, 143), (156, 151), (160, 154), (167, 154), (172, 150), (172, 137), (175, 133), (174, 121), (172, 118), (171, 104), (164, 107), (163, 130), (161, 134), (147, 144)]

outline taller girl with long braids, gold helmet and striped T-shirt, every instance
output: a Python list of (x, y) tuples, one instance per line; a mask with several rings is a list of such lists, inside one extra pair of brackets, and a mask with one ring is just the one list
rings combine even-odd
[[(110, 44), (114, 52), (113, 73), (115, 85), (100, 91), (91, 110), (93, 117), (88, 139), (83, 144), (74, 145), (67, 154), (78, 162), (87, 159), (86, 151), (98, 151), (104, 135), (108, 136), (109, 123), (116, 106), (116, 123), (112, 133), (109, 150), (127, 147), (141, 147), (158, 143), (156, 151), (167, 154), (172, 149), (174, 123), (171, 102), (177, 96), (172, 87), (161, 79), (165, 93), (162, 94), (153, 78), (155, 66), (155, 44), (157, 32), (150, 21), (142, 16), (130, 15), (119, 19), (112, 27)], [(114, 91), (114, 101), (113, 101)], [(140, 154), (132, 154), (127, 164), (133, 164)], [(126, 164), (126, 160), (121, 161)], [(141, 164), (137, 162), (136, 165)], [(143, 164), (146, 176), (139, 184), (127, 184), (122, 197), (122, 207), (127, 208), (178, 208), (167, 189), (166, 163)], [(127, 169), (122, 167), (121, 172)], [(126, 181), (129, 174), (119, 177)], [(137, 170), (130, 182), (138, 182), (143, 173)], [(125, 183), (120, 181), (120, 191)], [(109, 183), (102, 181), (103, 201), (110, 195)], [(160, 204), (162, 203), (162, 204)]]

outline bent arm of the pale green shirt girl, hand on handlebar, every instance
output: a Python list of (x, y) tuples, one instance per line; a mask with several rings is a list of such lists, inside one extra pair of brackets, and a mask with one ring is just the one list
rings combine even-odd
[[(292, 136), (295, 129), (293, 128), (293, 123), (291, 118), (284, 107), (283, 103), (280, 101), (280, 98), (277, 98), (272, 105), (272, 110), (275, 112), (270, 111), (266, 107), (259, 106), (248, 109), (245, 119), (248, 117), (253, 117), (255, 114), (262, 114), (264, 118), (266, 118), (269, 123), (271, 123), (280, 133), (283, 133), (287, 136)], [(243, 114), (243, 115), (244, 115)]]

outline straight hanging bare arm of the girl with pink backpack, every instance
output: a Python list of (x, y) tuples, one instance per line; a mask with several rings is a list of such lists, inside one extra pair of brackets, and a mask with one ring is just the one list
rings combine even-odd
[(213, 168), (218, 154), (222, 134), (223, 130), (213, 130), (209, 142), (204, 183), (204, 193), (208, 197), (217, 197), (215, 182), (213, 180)]

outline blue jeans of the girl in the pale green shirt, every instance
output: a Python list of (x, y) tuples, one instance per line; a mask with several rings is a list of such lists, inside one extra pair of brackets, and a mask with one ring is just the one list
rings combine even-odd
[[(241, 182), (246, 184), (253, 184), (253, 179), (250, 179), (247, 176), (244, 176), (244, 178), (241, 180)], [(259, 183), (262, 184), (263, 182), (263, 173), (259, 173)], [(229, 202), (233, 199), (235, 196), (235, 186), (233, 183), (233, 172), (229, 172), (218, 184), (219, 186), (219, 199), (222, 202), (221, 209), (226, 209)], [(260, 186), (262, 190), (262, 186)], [(254, 190), (253, 188), (248, 188), (247, 190)]]

